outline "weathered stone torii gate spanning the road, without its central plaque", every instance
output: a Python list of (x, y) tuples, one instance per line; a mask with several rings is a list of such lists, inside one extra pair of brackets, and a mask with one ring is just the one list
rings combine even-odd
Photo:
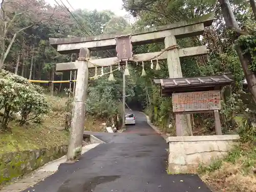
[[(210, 13), (199, 18), (188, 19), (182, 22), (169, 24), (161, 27), (148, 28), (140, 33), (133, 33), (131, 36), (131, 41), (133, 46), (150, 44), (153, 42), (164, 42), (165, 48), (167, 49), (170, 46), (174, 46), (174, 49), (167, 50), (161, 54), (158, 60), (167, 59), (169, 78), (178, 78), (182, 77), (180, 57), (188, 56), (198, 56), (207, 54), (206, 46), (198, 47), (189, 47), (178, 49), (176, 39), (193, 37), (202, 35), (204, 33), (205, 27), (208, 27), (212, 24), (214, 20), (215, 13)], [(72, 116), (72, 126), (71, 126), (71, 140), (72, 147), (69, 147), (68, 159), (72, 159), (76, 152), (81, 150), (82, 146), (82, 130), (84, 124), (84, 107), (81, 106), (81, 102), (86, 100), (87, 88), (83, 90), (84, 94), (81, 93), (81, 89), (84, 86), (88, 79), (88, 68), (95, 68), (94, 64), (97, 64), (99, 67), (108, 67), (113, 63), (118, 65), (117, 57), (102, 58), (102, 59), (90, 59), (90, 51), (99, 51), (99, 50), (108, 50), (116, 48), (115, 36), (121, 34), (110, 34), (110, 35), (101, 35), (93, 37), (74, 37), (74, 38), (50, 38), (50, 44), (61, 54), (67, 53), (78, 53), (80, 50), (80, 56), (76, 62), (67, 62), (67, 63), (57, 63), (56, 71), (70, 71), (78, 70), (77, 72), (77, 85), (75, 92), (74, 100), (74, 109)], [(133, 60), (146, 61), (151, 59), (154, 56), (159, 55), (161, 52), (153, 53), (142, 53), (133, 55)], [(81, 66), (82, 65), (82, 66)], [(80, 90), (79, 90), (80, 89)], [(79, 96), (80, 95), (80, 96)], [(80, 104), (76, 104), (80, 101)], [(78, 112), (78, 111), (79, 112)], [(180, 130), (177, 133), (181, 133), (179, 136), (188, 136), (191, 133), (191, 123), (189, 115), (176, 115), (176, 119), (180, 122), (178, 123), (177, 130)], [(77, 121), (82, 124), (78, 126)], [(80, 129), (80, 135), (72, 133), (75, 132), (75, 129)], [(75, 138), (77, 137), (77, 138)], [(71, 149), (72, 148), (72, 149)], [(73, 154), (73, 155), (72, 155)]]

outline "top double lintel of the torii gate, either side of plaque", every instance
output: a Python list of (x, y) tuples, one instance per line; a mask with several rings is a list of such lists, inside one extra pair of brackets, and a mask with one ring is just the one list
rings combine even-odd
[[(176, 38), (185, 38), (201, 35), (204, 27), (212, 24), (215, 13), (209, 13), (198, 18), (187, 19), (181, 22), (160, 27), (151, 27), (132, 33), (133, 45), (143, 45), (151, 42), (163, 41), (163, 38), (170, 34)], [(186, 28), (186, 29), (185, 29)], [(81, 47), (87, 47), (91, 51), (115, 49), (115, 36), (124, 35), (121, 33), (107, 34), (90, 37), (50, 38), (50, 44), (61, 54), (78, 53)]]

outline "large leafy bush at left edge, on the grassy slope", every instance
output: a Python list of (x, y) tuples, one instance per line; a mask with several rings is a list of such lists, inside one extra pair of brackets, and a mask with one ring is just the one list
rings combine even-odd
[(13, 113), (20, 113), (20, 125), (51, 110), (39, 86), (24, 77), (2, 70), (0, 72), (0, 110), (4, 109), (2, 129), (6, 129)]

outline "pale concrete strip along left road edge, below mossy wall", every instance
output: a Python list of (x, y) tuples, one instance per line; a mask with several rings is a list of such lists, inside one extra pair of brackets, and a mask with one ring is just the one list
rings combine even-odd
[[(82, 154), (90, 151), (92, 148), (98, 146), (101, 143), (104, 143), (103, 141), (101, 141), (100, 139), (96, 138), (96, 137), (92, 137), (94, 142), (98, 141), (98, 143), (92, 143), (92, 144), (88, 144), (86, 146), (82, 147)], [(37, 184), (40, 181), (44, 181), (45, 178), (51, 176), (52, 174), (54, 174), (55, 172), (58, 171), (58, 167), (60, 164), (62, 163), (66, 163), (66, 155), (60, 157), (59, 159), (56, 159), (54, 161), (48, 162), (45, 165), (39, 167), (38, 169), (34, 170), (32, 173), (28, 174), (27, 176), (24, 176), (23, 179), (15, 181), (14, 183), (3, 187), (2, 190), (0, 190), (0, 192), (19, 192), (19, 191), (23, 191), (29, 187), (34, 186), (35, 184)]]

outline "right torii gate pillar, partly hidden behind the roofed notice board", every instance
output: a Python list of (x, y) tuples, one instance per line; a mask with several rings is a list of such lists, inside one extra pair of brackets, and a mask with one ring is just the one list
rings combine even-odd
[[(164, 38), (165, 49), (170, 46), (177, 46), (177, 41), (174, 35)], [(167, 51), (167, 65), (169, 78), (183, 77), (180, 65), (179, 52), (177, 48)], [(190, 115), (176, 114), (176, 136), (192, 136), (192, 126)]]

